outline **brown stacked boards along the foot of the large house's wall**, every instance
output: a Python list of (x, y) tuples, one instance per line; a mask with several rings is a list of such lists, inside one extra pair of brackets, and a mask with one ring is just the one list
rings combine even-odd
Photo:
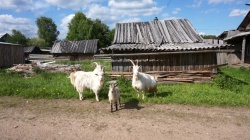
[[(203, 83), (211, 80), (216, 73), (211, 71), (148, 71), (146, 72), (157, 77), (158, 83)], [(124, 76), (132, 78), (132, 72), (106, 72), (111, 78)]]

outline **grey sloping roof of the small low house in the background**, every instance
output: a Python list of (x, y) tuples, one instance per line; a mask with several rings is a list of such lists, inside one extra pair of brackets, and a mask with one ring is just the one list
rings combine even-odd
[(56, 41), (51, 53), (96, 53), (98, 39), (81, 41)]

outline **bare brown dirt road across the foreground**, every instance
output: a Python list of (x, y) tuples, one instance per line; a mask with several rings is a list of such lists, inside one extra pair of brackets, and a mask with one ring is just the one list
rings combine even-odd
[(249, 140), (249, 108), (0, 97), (0, 139)]

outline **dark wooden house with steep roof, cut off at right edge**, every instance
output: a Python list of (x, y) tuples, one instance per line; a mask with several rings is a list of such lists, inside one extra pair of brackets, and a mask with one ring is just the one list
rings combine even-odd
[(228, 44), (233, 44), (234, 64), (250, 63), (250, 11), (237, 29), (224, 31), (218, 36)]

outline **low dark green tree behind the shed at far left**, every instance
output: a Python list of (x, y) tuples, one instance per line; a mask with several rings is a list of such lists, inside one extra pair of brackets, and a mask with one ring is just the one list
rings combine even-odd
[(6, 42), (27, 45), (28, 39), (18, 30), (13, 29), (12, 35), (8, 36)]

